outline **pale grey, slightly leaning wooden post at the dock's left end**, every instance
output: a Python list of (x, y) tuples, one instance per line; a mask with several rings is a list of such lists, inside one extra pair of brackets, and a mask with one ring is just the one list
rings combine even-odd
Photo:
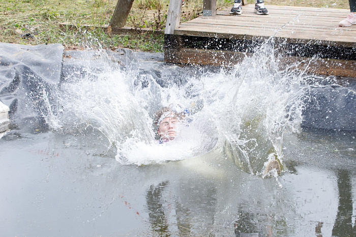
[(170, 0), (164, 34), (173, 35), (181, 20), (182, 0)]

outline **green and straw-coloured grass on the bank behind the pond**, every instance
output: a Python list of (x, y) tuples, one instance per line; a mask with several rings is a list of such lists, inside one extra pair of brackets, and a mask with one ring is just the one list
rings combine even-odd
[[(16, 44), (61, 43), (71, 48), (128, 47), (141, 51), (162, 52), (163, 34), (169, 0), (135, 0), (127, 26), (147, 27), (155, 34), (108, 35), (103, 28), (110, 22), (116, 0), (0, 0), (0, 40)], [(232, 0), (217, 0), (218, 8), (230, 8)], [(254, 4), (255, 0), (245, 0)], [(348, 9), (348, 0), (265, 0), (266, 5), (333, 7)], [(181, 21), (201, 14), (202, 0), (186, 0)], [(61, 31), (59, 24), (69, 22), (77, 30)], [(84, 27), (90, 24), (93, 27)], [(21, 34), (33, 38), (22, 38)]]

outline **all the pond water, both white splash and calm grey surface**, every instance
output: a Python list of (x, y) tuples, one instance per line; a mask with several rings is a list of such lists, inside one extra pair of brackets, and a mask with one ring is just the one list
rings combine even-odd
[[(39, 115), (15, 113), (0, 139), (2, 234), (354, 235), (356, 133), (301, 128), (312, 88), (342, 86), (269, 52), (228, 71), (70, 57)], [(158, 144), (153, 114), (171, 103), (189, 123)], [(283, 171), (262, 179), (271, 156)]]

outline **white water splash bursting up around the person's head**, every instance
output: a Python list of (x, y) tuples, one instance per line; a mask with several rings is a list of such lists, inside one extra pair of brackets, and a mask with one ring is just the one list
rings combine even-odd
[[(102, 70), (73, 73), (59, 90), (56, 120), (68, 130), (101, 131), (123, 164), (183, 160), (210, 151), (258, 174), (268, 159), (282, 161), (283, 133), (298, 132), (305, 74), (280, 69), (273, 48), (263, 45), (251, 57), (218, 72), (159, 64), (126, 70), (102, 53)], [(159, 144), (154, 113), (171, 103), (187, 107), (192, 121), (170, 142)]]

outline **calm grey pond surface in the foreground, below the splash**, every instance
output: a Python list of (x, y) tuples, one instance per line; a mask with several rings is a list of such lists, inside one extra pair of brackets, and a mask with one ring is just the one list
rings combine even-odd
[[(0, 142), (4, 235), (352, 235), (354, 134), (285, 138), (289, 171), (261, 179), (219, 154), (145, 166), (100, 155), (103, 136)], [(322, 141), (322, 142), (321, 142)]]

